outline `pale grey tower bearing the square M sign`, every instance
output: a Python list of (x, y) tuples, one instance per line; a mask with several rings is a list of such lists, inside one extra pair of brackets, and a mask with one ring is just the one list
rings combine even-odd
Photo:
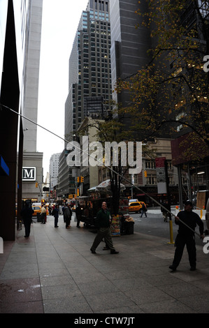
[[(30, 172), (31, 167), (36, 171), (35, 181), (34, 179), (23, 179), (22, 199), (31, 199), (32, 202), (41, 199), (43, 189), (43, 153), (37, 152), (36, 149), (42, 9), (43, 0), (31, 1), (27, 65), (24, 68), (24, 96), (22, 99), (22, 114), (31, 120), (22, 119), (24, 133), (22, 166), (27, 168), (27, 172)], [(38, 188), (36, 188), (36, 182), (38, 182)]]

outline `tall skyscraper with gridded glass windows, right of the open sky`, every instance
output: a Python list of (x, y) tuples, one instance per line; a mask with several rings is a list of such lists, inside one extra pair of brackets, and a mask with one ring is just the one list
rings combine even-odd
[(90, 0), (69, 59), (65, 135), (73, 135), (84, 117), (106, 116), (112, 94), (110, 47), (109, 0)]

